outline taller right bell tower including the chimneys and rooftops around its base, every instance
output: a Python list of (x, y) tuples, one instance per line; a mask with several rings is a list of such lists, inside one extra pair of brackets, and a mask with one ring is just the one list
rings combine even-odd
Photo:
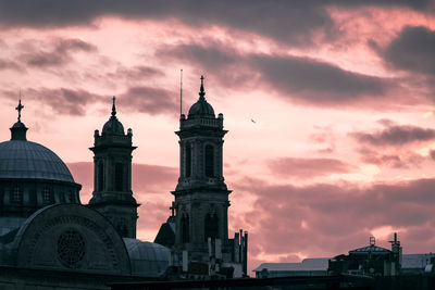
[(207, 102), (203, 77), (198, 101), (181, 115), (179, 177), (172, 216), (156, 242), (172, 247), (173, 266), (189, 277), (247, 274), (247, 232), (228, 239), (228, 194), (223, 176), (224, 116)]

